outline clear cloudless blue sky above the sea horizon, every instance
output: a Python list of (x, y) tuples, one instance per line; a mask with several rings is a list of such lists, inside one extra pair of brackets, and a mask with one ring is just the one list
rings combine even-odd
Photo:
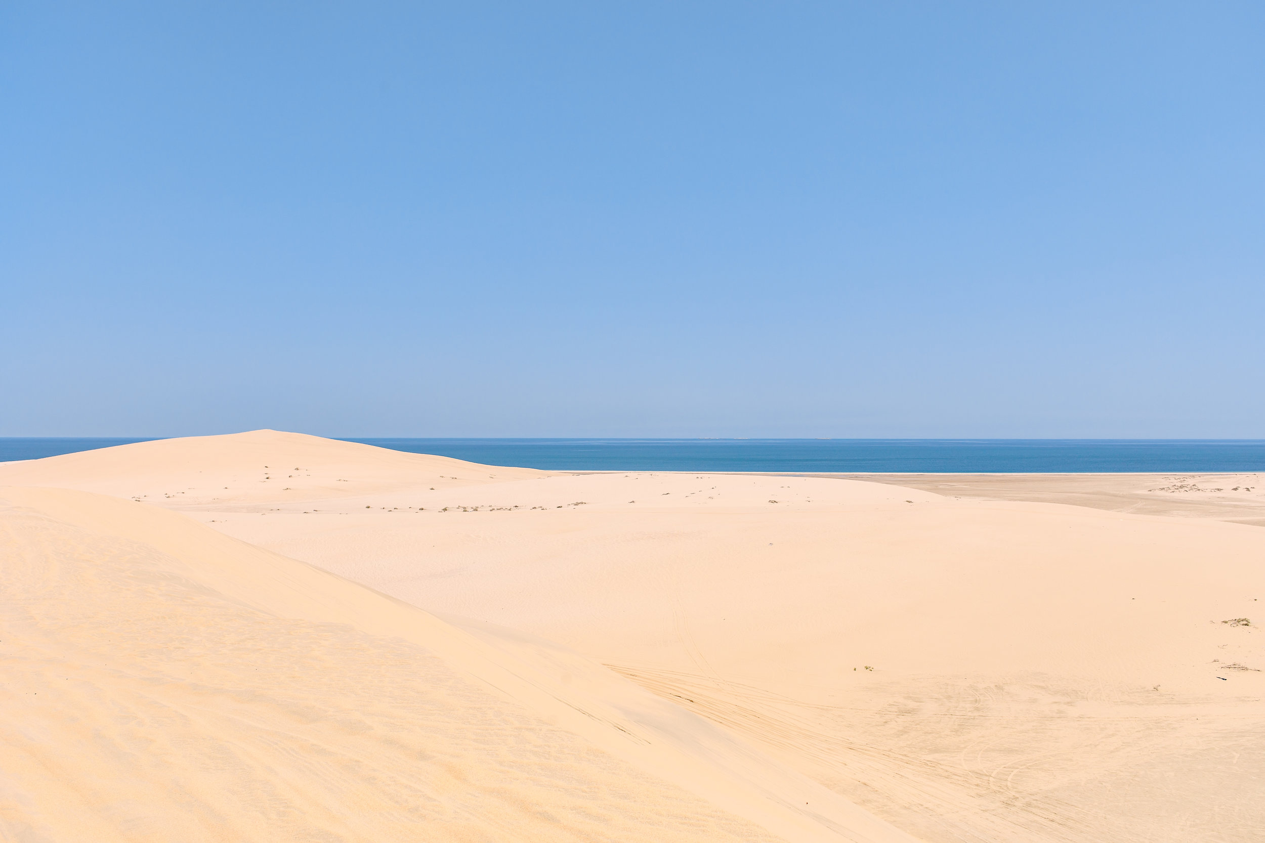
[(1265, 437), (1260, 3), (0, 39), (0, 435)]

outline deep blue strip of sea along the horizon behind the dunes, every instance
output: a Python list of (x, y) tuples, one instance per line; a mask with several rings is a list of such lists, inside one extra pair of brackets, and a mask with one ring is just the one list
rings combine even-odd
[[(0, 461), (144, 439), (0, 439)], [(1265, 471), (1265, 440), (349, 439), (488, 465), (614, 471)]]

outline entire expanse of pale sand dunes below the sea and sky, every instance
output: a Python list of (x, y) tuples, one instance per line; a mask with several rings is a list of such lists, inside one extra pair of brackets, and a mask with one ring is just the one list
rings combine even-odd
[(0, 828), (1259, 839), (1260, 475), (0, 465)]

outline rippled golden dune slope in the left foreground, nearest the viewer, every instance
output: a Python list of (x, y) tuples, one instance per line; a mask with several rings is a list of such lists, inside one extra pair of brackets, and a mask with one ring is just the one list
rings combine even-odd
[(573, 653), (176, 513), (0, 488), (0, 555), (4, 839), (910, 839)]

